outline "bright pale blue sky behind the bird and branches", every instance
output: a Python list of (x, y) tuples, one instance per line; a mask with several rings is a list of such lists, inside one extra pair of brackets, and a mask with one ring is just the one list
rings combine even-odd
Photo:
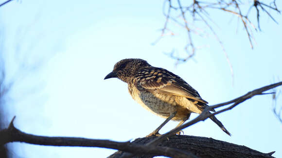
[[(281, 1), (276, 2), (281, 9)], [(237, 18), (211, 13), (233, 66), (232, 86), (229, 65), (212, 35), (207, 39), (195, 37), (196, 45), (207, 47), (177, 67), (164, 52), (173, 48), (183, 52), (186, 32), (179, 29), (175, 37), (151, 45), (165, 21), (162, 6), (163, 0), (15, 0), (1, 7), (1, 53), (7, 81), (15, 81), (6, 99), (6, 124), (16, 115), (15, 126), (36, 135), (113, 141), (146, 136), (164, 119), (142, 109), (121, 80), (104, 80), (124, 58), (141, 58), (174, 72), (210, 105), (281, 81), (281, 15), (274, 13), (280, 25), (261, 16), (262, 32), (254, 32), (257, 44), (252, 50), (242, 25), (236, 32)], [(231, 137), (210, 120), (190, 126), (184, 133), (264, 153), (276, 151), (273, 156), (282, 158), (282, 123), (272, 112), (271, 98), (255, 96), (217, 115)], [(161, 133), (176, 125), (168, 123)], [(105, 158), (115, 152), (15, 142), (8, 146), (13, 148), (13, 158)]]

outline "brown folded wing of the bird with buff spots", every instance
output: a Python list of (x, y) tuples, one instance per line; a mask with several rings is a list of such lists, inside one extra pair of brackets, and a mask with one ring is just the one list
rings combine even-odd
[[(138, 73), (135, 80), (137, 88), (157, 91), (161, 94), (183, 96), (194, 101), (208, 104), (198, 92), (179, 76), (162, 68), (147, 68)], [(196, 103), (195, 103), (196, 104)], [(205, 107), (203, 107), (204, 109)]]

